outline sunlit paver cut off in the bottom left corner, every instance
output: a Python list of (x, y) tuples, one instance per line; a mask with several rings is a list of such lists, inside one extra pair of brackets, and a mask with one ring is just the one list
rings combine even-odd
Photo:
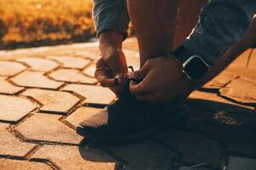
[(0, 167), (4, 170), (51, 170), (52, 168), (45, 163), (35, 162), (35, 161), (20, 161), (13, 159), (3, 159), (0, 158)]

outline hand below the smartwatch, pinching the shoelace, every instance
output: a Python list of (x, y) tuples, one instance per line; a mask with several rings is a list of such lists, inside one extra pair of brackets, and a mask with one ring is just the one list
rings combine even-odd
[(139, 71), (128, 77), (142, 82), (130, 82), (131, 94), (152, 103), (167, 102), (183, 95), (189, 88), (189, 79), (183, 75), (176, 59), (160, 57), (148, 59)]

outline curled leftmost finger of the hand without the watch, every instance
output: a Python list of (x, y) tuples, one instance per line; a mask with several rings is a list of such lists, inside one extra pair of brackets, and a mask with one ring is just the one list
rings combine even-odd
[(96, 71), (95, 77), (98, 82), (101, 83), (102, 87), (114, 87), (116, 85), (116, 81), (114, 78), (108, 77), (108, 73), (106, 71)]

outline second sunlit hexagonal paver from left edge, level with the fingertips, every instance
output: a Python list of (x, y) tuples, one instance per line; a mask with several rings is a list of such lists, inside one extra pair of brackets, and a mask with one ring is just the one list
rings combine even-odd
[(44, 76), (43, 72), (37, 71), (24, 71), (19, 75), (10, 79), (12, 82), (19, 86), (30, 88), (60, 88), (63, 82), (55, 82)]

